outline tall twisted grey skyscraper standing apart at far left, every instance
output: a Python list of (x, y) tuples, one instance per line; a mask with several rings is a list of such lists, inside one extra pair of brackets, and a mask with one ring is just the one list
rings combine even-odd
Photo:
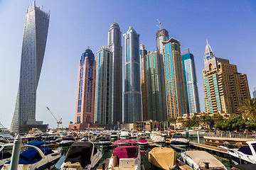
[(36, 2), (28, 6), (21, 51), (21, 70), (11, 132), (28, 132), (32, 128), (46, 130), (47, 125), (36, 121), (36, 89), (41, 74), (50, 11)]

